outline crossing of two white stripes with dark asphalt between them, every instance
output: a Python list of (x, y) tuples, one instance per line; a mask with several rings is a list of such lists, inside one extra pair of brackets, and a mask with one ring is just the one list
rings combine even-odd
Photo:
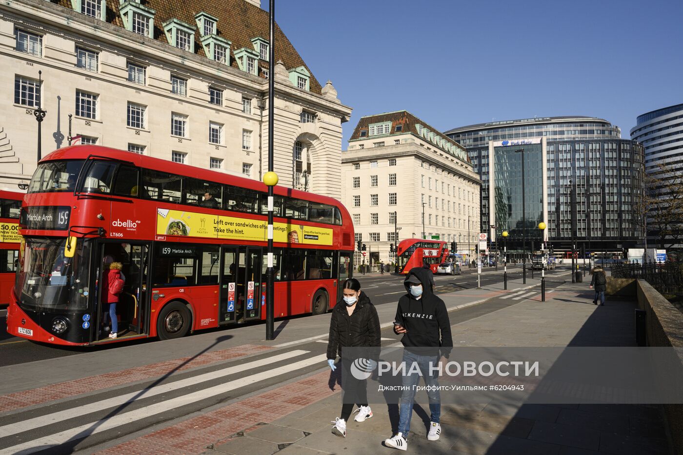
[[(317, 352), (316, 352), (317, 351)], [(321, 368), (320, 350), (260, 354), (0, 416), (0, 454), (83, 450)], [(177, 376), (177, 377), (176, 377)], [(87, 395), (87, 394), (85, 394)]]

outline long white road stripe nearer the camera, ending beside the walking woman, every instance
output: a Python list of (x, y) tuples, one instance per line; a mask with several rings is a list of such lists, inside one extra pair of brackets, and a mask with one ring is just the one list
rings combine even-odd
[(135, 411), (128, 411), (126, 413), (112, 415), (111, 417), (90, 422), (76, 428), (70, 428), (69, 430), (64, 430), (53, 435), (33, 439), (33, 441), (13, 445), (12, 447), (6, 447), (2, 451), (3, 453), (12, 454), (16, 452), (21, 452), (22, 454), (40, 452), (41, 450), (46, 450), (50, 447), (56, 447), (57, 445), (68, 443), (69, 441), (83, 439), (85, 437), (95, 435), (96, 433), (111, 430), (117, 426), (130, 424), (140, 419), (152, 417), (152, 415), (165, 413), (171, 411), (171, 409), (187, 406), (189, 404), (193, 404), (194, 402), (204, 400), (205, 398), (225, 394), (229, 391), (239, 389), (240, 387), (245, 387), (246, 385), (264, 381), (265, 379), (280, 376), (281, 374), (292, 372), (301, 368), (306, 368), (307, 366), (315, 365), (316, 363), (322, 363), (326, 357), (327, 355), (325, 354), (316, 355), (316, 357), (311, 357), (310, 359), (305, 359), (296, 363), (290, 363), (289, 365), (275, 368), (275, 370), (268, 370), (257, 374), (252, 374), (251, 376), (236, 379), (235, 381), (229, 381), (225, 384), (219, 384), (215, 385), (214, 387), (209, 387), (208, 389), (195, 391), (192, 394), (150, 404), (149, 406), (136, 409)]

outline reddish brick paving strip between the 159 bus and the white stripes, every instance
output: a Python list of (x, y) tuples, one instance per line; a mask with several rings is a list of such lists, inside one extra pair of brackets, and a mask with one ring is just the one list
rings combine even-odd
[(173, 370), (183, 371), (198, 366), (210, 365), (219, 361), (235, 359), (249, 354), (260, 353), (271, 349), (270, 346), (260, 346), (257, 344), (245, 344), (236, 348), (216, 350), (211, 353), (204, 353), (197, 357), (180, 357), (180, 359), (167, 360), (150, 365), (128, 368), (127, 370), (115, 371), (87, 378), (74, 379), (63, 383), (46, 385), (26, 391), (16, 392), (0, 396), (0, 413), (14, 411), (14, 409), (24, 408), (32, 404), (40, 404), (48, 401), (59, 400), (84, 394), (85, 392), (95, 391), (141, 381), (143, 379), (163, 376)]

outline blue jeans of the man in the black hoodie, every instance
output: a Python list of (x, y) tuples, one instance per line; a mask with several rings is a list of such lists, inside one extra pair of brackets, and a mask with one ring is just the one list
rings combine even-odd
[(403, 434), (403, 437), (408, 437), (410, 431), (410, 418), (413, 417), (413, 400), (415, 400), (415, 386), (420, 381), (420, 375), (417, 372), (408, 375), (410, 366), (417, 362), (417, 366), (423, 372), (425, 385), (434, 386), (434, 390), (427, 392), (429, 398), (429, 410), (432, 413), (430, 420), (439, 423), (441, 418), (441, 396), (438, 393), (438, 372), (434, 372), (434, 376), (430, 375), (430, 363), (436, 366), (438, 356), (418, 355), (411, 353), (409, 350), (403, 351), (403, 362), (406, 364), (406, 374), (403, 376), (402, 385), (408, 387), (403, 390), (401, 394), (401, 409), (398, 417), (398, 432)]

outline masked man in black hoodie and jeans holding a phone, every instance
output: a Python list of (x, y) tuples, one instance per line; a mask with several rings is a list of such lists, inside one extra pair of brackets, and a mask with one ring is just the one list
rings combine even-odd
[[(438, 393), (439, 361), (445, 363), (453, 348), (451, 338), (451, 322), (448, 318), (446, 305), (432, 293), (427, 274), (431, 272), (423, 268), (411, 268), (404, 281), (408, 291), (398, 301), (393, 331), (402, 334), (401, 342), (404, 346), (403, 363), (406, 372), (402, 380), (401, 407), (399, 411), (398, 432), (391, 438), (385, 439), (387, 447), (398, 450), (408, 450), (406, 437), (410, 432), (410, 418), (413, 417), (413, 400), (415, 400), (415, 386), (422, 376), (428, 386), (429, 409), (431, 413), (427, 439), (436, 441), (441, 436), (441, 396)], [(441, 339), (439, 339), (441, 335)], [(422, 374), (411, 368), (417, 363)], [(440, 370), (440, 368), (439, 368)], [(430, 374), (431, 372), (433, 374)]]

